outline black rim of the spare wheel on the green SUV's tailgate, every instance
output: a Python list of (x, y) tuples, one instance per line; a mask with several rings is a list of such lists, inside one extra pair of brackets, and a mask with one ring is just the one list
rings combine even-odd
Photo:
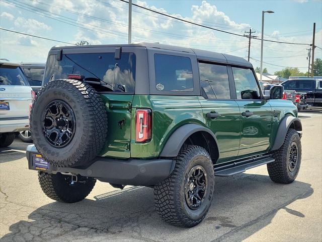
[(71, 107), (62, 100), (50, 102), (43, 114), (43, 133), (54, 147), (64, 147), (73, 138), (76, 120)]

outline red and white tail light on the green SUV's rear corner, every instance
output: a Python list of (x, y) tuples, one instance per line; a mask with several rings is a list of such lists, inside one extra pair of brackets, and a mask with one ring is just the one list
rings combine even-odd
[(137, 109), (135, 116), (135, 142), (148, 142), (151, 140), (152, 112), (150, 109)]

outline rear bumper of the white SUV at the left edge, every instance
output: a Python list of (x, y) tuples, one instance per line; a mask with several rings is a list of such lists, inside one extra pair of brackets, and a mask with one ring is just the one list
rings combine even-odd
[(0, 118), (0, 133), (11, 133), (29, 130), (28, 117), (20, 118)]

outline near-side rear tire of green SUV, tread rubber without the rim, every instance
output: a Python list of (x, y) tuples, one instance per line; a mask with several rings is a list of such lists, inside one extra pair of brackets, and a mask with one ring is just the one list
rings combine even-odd
[[(174, 161), (175, 168), (170, 176), (154, 186), (155, 208), (166, 222), (181, 227), (193, 227), (204, 219), (211, 205), (214, 191), (213, 164), (208, 152), (194, 145), (182, 147)], [(205, 169), (208, 188), (200, 207), (192, 210), (185, 200), (185, 181), (189, 171), (196, 165)]]

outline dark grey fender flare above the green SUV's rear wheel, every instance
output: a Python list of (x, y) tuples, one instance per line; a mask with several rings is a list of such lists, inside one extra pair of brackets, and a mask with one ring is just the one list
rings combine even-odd
[(211, 130), (196, 124), (186, 124), (178, 128), (168, 139), (166, 145), (164, 146), (162, 152), (160, 153), (160, 157), (176, 157), (179, 154), (179, 151), (185, 141), (192, 134), (203, 131), (210, 134), (218, 147), (217, 139), (215, 135), (211, 132)]

